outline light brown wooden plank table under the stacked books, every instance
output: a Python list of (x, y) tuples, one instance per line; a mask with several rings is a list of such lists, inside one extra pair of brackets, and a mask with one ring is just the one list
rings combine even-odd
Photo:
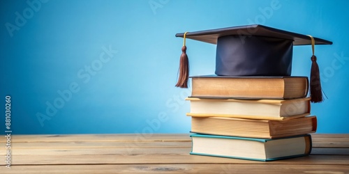
[(0, 173), (349, 173), (349, 134), (313, 134), (308, 157), (248, 161), (189, 155), (188, 134), (13, 135)]

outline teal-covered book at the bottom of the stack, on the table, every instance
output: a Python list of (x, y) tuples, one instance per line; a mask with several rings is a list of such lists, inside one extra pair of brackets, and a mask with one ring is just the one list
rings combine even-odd
[(191, 155), (227, 157), (255, 161), (274, 161), (302, 157), (311, 153), (311, 135), (279, 139), (191, 134)]

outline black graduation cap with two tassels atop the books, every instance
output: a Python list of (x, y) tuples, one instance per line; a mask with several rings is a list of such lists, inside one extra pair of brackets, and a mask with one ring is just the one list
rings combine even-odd
[(320, 73), (314, 45), (332, 45), (332, 42), (311, 35), (302, 35), (262, 25), (234, 26), (177, 33), (184, 38), (179, 79), (180, 88), (188, 88), (189, 62), (186, 38), (216, 44), (216, 74), (222, 76), (290, 76), (294, 45), (312, 45), (311, 101), (322, 102)]

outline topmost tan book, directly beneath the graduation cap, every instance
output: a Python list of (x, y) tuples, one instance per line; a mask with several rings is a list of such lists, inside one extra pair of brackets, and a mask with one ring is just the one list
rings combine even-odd
[(192, 97), (293, 99), (306, 97), (308, 77), (195, 76)]

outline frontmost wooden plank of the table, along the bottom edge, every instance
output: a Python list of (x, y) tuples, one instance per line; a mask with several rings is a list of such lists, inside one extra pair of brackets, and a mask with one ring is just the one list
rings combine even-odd
[[(50, 171), (50, 172), (48, 172)], [(111, 165), (57, 165), (57, 166), (13, 166), (4, 173), (325, 173), (346, 174), (349, 166), (344, 165), (265, 165), (265, 164), (111, 164)]]

